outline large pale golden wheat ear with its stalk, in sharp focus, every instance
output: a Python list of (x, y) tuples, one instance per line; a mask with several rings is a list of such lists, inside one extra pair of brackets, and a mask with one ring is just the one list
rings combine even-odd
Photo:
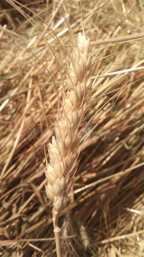
[(59, 213), (66, 207), (67, 195), (78, 166), (80, 144), (79, 125), (87, 110), (92, 83), (91, 55), (88, 53), (90, 39), (78, 34), (73, 49), (70, 68), (67, 73), (67, 95), (63, 95), (62, 111), (58, 110), (55, 121), (55, 134), (49, 143), (50, 163), (47, 166), (46, 195), (53, 202), (53, 226), (56, 238), (57, 257), (60, 253)]

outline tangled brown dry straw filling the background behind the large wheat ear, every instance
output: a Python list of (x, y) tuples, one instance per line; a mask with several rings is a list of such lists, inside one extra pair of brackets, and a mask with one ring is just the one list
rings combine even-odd
[[(60, 98), (62, 83), (67, 90), (71, 38), (67, 23), (59, 21), (67, 14), (76, 37), (82, 31), (80, 1), (63, 0), (60, 7), (53, 1), (2, 0), (0, 7), (0, 255), (52, 257), (43, 141), (51, 141), (54, 127), (53, 89)], [(93, 76), (102, 70), (81, 129), (88, 123), (89, 133), (98, 124), (81, 149), (59, 219), (63, 256), (143, 256), (142, 1), (88, 0), (82, 9), (85, 34), (95, 41), (91, 52), (101, 48)], [(133, 34), (139, 39), (125, 41)], [(123, 42), (111, 44), (117, 37)]]

